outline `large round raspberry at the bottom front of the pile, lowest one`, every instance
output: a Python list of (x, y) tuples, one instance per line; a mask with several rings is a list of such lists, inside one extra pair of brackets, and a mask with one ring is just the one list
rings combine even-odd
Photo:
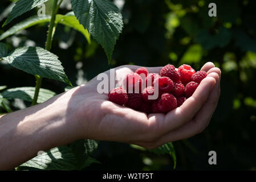
[(161, 113), (168, 113), (177, 107), (177, 100), (170, 93), (163, 93), (157, 102), (157, 107)]

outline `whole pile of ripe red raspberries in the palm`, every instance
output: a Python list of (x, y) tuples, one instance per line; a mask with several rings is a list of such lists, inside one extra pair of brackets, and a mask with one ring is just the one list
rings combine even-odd
[[(173, 65), (165, 65), (158, 73), (149, 73), (147, 68), (138, 68), (135, 73), (125, 77), (126, 88), (118, 87), (108, 93), (109, 101), (124, 105), (144, 113), (168, 113), (192, 96), (205, 71), (194, 71), (190, 65), (183, 64), (178, 69)], [(143, 83), (145, 88), (143, 89)], [(150, 84), (149, 84), (150, 83)], [(139, 92), (135, 92), (135, 86)], [(150, 85), (150, 86), (149, 86)], [(159, 94), (155, 100), (148, 99), (158, 86)], [(128, 89), (129, 88), (129, 89)], [(127, 93), (127, 90), (129, 92)], [(130, 91), (132, 90), (132, 93)]]

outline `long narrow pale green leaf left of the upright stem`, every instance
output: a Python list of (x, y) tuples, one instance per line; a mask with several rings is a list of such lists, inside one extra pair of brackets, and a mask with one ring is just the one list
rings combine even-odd
[(13, 27), (9, 28), (9, 30), (3, 32), (3, 34), (0, 36), (0, 40), (3, 40), (7, 38), (10, 35), (13, 35), (17, 33), (18, 31), (24, 30), (26, 28), (29, 28), (31, 26), (34, 26), (35, 24), (38, 23), (44, 23), (44, 22), (50, 22), (51, 16), (46, 15), (46, 16), (31, 16), (30, 18), (27, 18), (23, 20), (22, 22), (19, 22), (15, 24)]

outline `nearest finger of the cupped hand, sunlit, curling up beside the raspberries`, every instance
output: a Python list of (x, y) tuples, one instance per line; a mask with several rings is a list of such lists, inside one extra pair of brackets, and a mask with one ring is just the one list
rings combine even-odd
[[(190, 121), (194, 115), (200, 110), (201, 106), (207, 100), (210, 90), (216, 84), (216, 80), (209, 76), (201, 81), (200, 85), (194, 92), (193, 96), (189, 97), (183, 105), (167, 113), (164, 120), (153, 120), (151, 125), (157, 127), (157, 131), (161, 134), (168, 133), (181, 127), (186, 122)], [(154, 114), (149, 114), (149, 120)], [(154, 123), (155, 122), (155, 123)]]

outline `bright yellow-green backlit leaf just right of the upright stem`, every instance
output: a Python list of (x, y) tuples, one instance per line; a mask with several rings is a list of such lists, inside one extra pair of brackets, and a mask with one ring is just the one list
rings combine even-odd
[(75, 30), (81, 32), (87, 39), (88, 44), (91, 44), (89, 32), (86, 29), (84, 29), (82, 24), (79, 23), (78, 19), (76, 19), (76, 16), (73, 12), (67, 13), (66, 15), (56, 15), (55, 22), (74, 28)]

